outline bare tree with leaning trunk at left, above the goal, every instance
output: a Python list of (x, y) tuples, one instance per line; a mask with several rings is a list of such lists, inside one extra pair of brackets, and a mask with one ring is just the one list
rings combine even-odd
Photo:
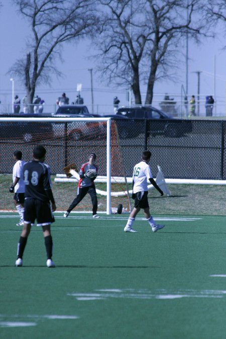
[(36, 86), (50, 83), (51, 74), (60, 72), (54, 67), (61, 58), (62, 44), (82, 38), (91, 32), (95, 23), (93, 0), (13, 0), (19, 13), (28, 20), (25, 57), (18, 59), (9, 73), (25, 84), (28, 103), (32, 103)]

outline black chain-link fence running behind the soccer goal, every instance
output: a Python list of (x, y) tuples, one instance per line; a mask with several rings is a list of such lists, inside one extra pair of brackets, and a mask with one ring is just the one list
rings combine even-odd
[[(127, 177), (132, 176), (142, 151), (148, 149), (152, 151), (153, 176), (157, 175), (159, 165), (165, 178), (226, 179), (225, 121), (171, 119), (117, 120), (116, 123)], [(73, 122), (70, 127), (68, 124), (71, 123), (52, 123), (51, 118), (48, 122), (0, 121), (0, 173), (12, 173), (15, 150), (21, 150), (23, 159), (30, 161), (34, 146), (43, 145), (52, 174), (63, 173), (63, 167), (73, 162), (80, 165), (90, 152), (95, 152), (99, 175), (106, 175), (104, 133), (99, 129), (95, 137), (88, 138), (92, 125)], [(70, 133), (60, 134), (62, 128)], [(80, 134), (84, 130), (86, 135)]]

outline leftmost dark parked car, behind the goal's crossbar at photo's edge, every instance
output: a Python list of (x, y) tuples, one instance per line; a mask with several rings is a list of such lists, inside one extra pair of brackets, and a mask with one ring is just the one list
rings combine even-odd
[[(6, 115), (2, 115), (6, 117)], [(52, 137), (52, 124), (48, 122), (31, 122), (17, 121), (17, 118), (39, 118), (42, 115), (19, 114), (7, 115), (13, 118), (10, 122), (0, 122), (0, 138), (1, 139), (17, 139), (25, 142), (38, 142), (40, 140), (48, 140)]]

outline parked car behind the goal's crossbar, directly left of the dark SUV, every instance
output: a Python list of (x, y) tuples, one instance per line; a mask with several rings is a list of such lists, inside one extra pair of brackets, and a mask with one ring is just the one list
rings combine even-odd
[[(86, 105), (74, 104), (60, 106), (56, 113), (52, 115), (54, 118), (95, 118), (98, 115), (89, 113)], [(92, 135), (95, 128), (95, 133), (100, 135), (102, 129), (101, 124), (93, 122), (57, 122), (53, 123), (54, 137), (67, 136), (73, 140), (83, 140)]]

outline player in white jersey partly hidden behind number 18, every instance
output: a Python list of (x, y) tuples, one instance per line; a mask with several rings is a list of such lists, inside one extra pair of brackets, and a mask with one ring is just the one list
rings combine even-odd
[(24, 192), (25, 185), (22, 175), (22, 167), (25, 164), (25, 161), (22, 159), (22, 152), (14, 152), (14, 160), (16, 161), (13, 168), (13, 184), (10, 187), (10, 192), (14, 194), (14, 204), (17, 208), (17, 211), (21, 217), (20, 221), (17, 223), (17, 226), (22, 226), (24, 224)]

